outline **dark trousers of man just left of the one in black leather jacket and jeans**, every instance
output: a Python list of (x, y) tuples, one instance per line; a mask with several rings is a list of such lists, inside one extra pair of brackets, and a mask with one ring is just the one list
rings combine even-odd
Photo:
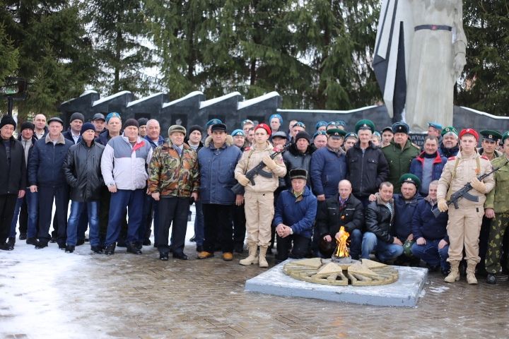
[(49, 224), (51, 223), (53, 199), (55, 201), (55, 218), (58, 224), (57, 242), (64, 245), (67, 238), (67, 210), (69, 209), (69, 186), (39, 186), (39, 240), (42, 244), (49, 242)]

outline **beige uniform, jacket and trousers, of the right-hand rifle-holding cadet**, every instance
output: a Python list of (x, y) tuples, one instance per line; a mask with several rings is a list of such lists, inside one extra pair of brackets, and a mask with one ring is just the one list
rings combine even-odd
[[(442, 176), (438, 182), (437, 198), (448, 200), (450, 195), (462, 189), (462, 187), (472, 182), (474, 177), (491, 171), (491, 163), (486, 157), (474, 152), (472, 155), (464, 156), (458, 153), (456, 157), (450, 157), (445, 164)], [(469, 267), (479, 263), (479, 231), (481, 230), (481, 221), (484, 215), (485, 193), (491, 191), (495, 182), (493, 174), (484, 180), (486, 192), (480, 192), (476, 189), (469, 191), (472, 196), (479, 198), (478, 202), (469, 201), (466, 198), (458, 200), (459, 208), (449, 206), (449, 224), (447, 225), (447, 234), (449, 235), (449, 261), (459, 263), (462, 260), (463, 246), (465, 247), (466, 259)], [(447, 280), (446, 280), (447, 281)]]

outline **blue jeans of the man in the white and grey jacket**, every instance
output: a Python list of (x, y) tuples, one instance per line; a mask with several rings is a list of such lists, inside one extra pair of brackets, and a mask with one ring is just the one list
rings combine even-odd
[(122, 219), (128, 209), (129, 220), (127, 224), (127, 242), (138, 241), (139, 227), (141, 227), (141, 214), (143, 213), (144, 189), (134, 191), (119, 189), (112, 193), (110, 200), (110, 218), (106, 232), (105, 246), (117, 242), (122, 228)]

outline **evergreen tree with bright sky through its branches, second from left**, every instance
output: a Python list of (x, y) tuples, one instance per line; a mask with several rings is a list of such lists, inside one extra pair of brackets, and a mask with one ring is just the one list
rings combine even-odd
[(155, 63), (142, 4), (133, 0), (84, 1), (98, 69), (92, 84), (103, 93), (130, 90), (146, 95), (156, 87), (155, 79), (146, 74)]

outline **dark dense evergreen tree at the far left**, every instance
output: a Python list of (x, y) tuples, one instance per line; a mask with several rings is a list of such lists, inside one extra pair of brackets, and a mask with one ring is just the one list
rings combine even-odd
[(28, 114), (54, 115), (61, 102), (83, 92), (93, 70), (77, 6), (64, 0), (2, 1), (0, 23), (18, 51), (17, 67), (8, 73), (29, 83), (28, 99), (15, 103), (21, 121)]

